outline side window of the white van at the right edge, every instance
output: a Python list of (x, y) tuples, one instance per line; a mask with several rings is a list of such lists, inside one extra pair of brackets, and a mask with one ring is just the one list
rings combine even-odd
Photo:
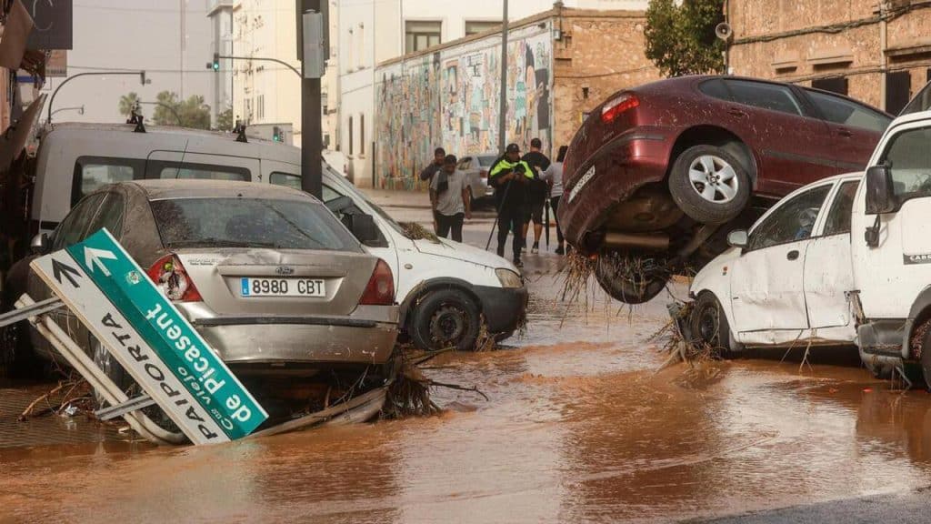
[(902, 131), (893, 137), (883, 161), (892, 171), (893, 192), (899, 200), (931, 196), (931, 128)]

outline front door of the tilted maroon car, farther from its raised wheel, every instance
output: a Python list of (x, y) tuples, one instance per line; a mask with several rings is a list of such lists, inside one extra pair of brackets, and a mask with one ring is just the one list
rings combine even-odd
[(892, 118), (862, 103), (823, 91), (804, 90), (830, 130), (822, 140), (839, 172), (862, 171)]

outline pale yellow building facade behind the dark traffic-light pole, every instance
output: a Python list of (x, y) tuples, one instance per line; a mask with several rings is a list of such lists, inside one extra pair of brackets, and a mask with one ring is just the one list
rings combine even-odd
[[(325, 0), (326, 1), (326, 0)], [(331, 34), (338, 24), (336, 0), (330, 0)], [(237, 0), (233, 3), (233, 47), (231, 61), (234, 120), (248, 126), (290, 129), (286, 142), (301, 145), (301, 76), (277, 62), (255, 60), (274, 58), (301, 71), (297, 60), (297, 9), (293, 0)], [(338, 127), (336, 108), (331, 104), (338, 93), (337, 48), (331, 40), (327, 72), (320, 81), (323, 145), (333, 148)], [(252, 59), (252, 60), (250, 60)], [(223, 64), (221, 65), (223, 70)], [(218, 81), (220, 81), (218, 79)]]

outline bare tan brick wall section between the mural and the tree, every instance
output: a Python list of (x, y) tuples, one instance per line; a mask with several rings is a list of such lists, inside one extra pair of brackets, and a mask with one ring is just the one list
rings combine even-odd
[(557, 19), (562, 37), (553, 44), (554, 154), (569, 144), (583, 116), (612, 93), (661, 78), (643, 54), (645, 21), (642, 12), (589, 11)]

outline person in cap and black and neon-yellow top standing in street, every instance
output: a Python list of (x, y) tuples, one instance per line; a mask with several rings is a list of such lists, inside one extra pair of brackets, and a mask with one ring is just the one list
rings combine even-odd
[(533, 179), (533, 170), (527, 162), (520, 159), (520, 147), (509, 144), (505, 155), (494, 160), (488, 172), (488, 182), (494, 187), (494, 197), (498, 206), (498, 256), (505, 255), (507, 233), (513, 232), (511, 251), (514, 265), (523, 267), (520, 262), (520, 248), (523, 246), (524, 216), (527, 213), (527, 186)]

